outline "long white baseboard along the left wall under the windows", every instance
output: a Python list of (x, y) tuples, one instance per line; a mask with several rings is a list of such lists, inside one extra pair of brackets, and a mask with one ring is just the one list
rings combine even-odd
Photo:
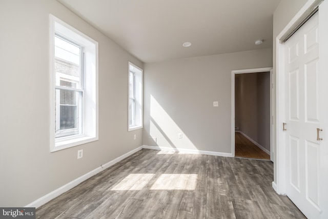
[(99, 172), (105, 170), (106, 168), (108, 168), (108, 167), (110, 167), (110, 166), (113, 166), (113, 165), (116, 164), (117, 162), (123, 160), (124, 158), (126, 158), (126, 157), (128, 157), (128, 156), (134, 154), (135, 152), (137, 152), (137, 151), (139, 151), (139, 150), (141, 150), (141, 149), (142, 149), (142, 146), (140, 146), (140, 147), (138, 147), (138, 148), (136, 148), (136, 149), (134, 149), (134, 150), (132, 150), (132, 151), (129, 151), (128, 153), (123, 154), (123, 155), (121, 155), (121, 156), (115, 158), (114, 160), (112, 160), (112, 161), (110, 161), (110, 162), (108, 162), (108, 163), (102, 165), (101, 167), (98, 167), (98, 168), (96, 168), (96, 169), (94, 169), (94, 170), (92, 170), (92, 171), (90, 171), (90, 172), (84, 174), (83, 176), (80, 176), (80, 177), (76, 178), (75, 180), (69, 182), (68, 184), (66, 184), (66, 185), (64, 185), (64, 186), (62, 186), (62, 187), (60, 187), (60, 188), (58, 188), (58, 189), (56, 189), (56, 190), (54, 190), (54, 191), (52, 191), (52, 192), (46, 194), (46, 195), (44, 195), (44, 196), (38, 198), (37, 200), (35, 200), (34, 202), (28, 204), (28, 205), (25, 206), (25, 207), (27, 207), (27, 208), (28, 208), (28, 207), (35, 207), (35, 208), (38, 208), (38, 207), (40, 207), (40, 206), (46, 204), (47, 202), (51, 201), (53, 198), (59, 196), (60, 194), (63, 194), (64, 192), (66, 192), (66, 191), (68, 191), (68, 190), (74, 188), (74, 187), (77, 186), (78, 184), (80, 184), (80, 183), (82, 183), (82, 182), (88, 180), (88, 178), (90, 178), (91, 176), (93, 176), (93, 175), (95, 175), (95, 174), (97, 174), (97, 173), (99, 173)]

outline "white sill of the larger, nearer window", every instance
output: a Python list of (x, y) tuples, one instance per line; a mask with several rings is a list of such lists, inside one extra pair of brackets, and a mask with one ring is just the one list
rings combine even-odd
[(74, 146), (94, 142), (94, 141), (98, 141), (98, 137), (83, 135), (83, 136), (79, 136), (79, 137), (75, 137), (75, 138), (69, 138), (66, 140), (64, 139), (64, 140), (56, 141), (55, 147), (53, 147), (50, 152), (55, 152), (55, 151), (63, 150), (66, 148), (71, 148)]

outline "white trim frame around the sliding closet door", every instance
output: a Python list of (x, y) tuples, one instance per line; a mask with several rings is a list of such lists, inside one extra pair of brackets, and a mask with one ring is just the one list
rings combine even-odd
[(315, 2), (309, 0), (301, 10), (293, 17), (290, 23), (280, 32), (276, 40), (276, 153), (274, 161), (276, 162), (276, 182), (273, 182), (273, 188), (278, 194), (286, 194), (286, 171), (285, 171), (285, 133), (282, 131), (282, 123), (285, 121), (284, 113), (284, 44), (280, 44), (279, 39), (297, 22), (306, 10)]

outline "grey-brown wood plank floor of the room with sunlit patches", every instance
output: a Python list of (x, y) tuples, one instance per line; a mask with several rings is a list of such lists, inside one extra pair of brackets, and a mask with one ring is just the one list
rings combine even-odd
[(36, 218), (305, 218), (272, 181), (271, 161), (142, 149)]

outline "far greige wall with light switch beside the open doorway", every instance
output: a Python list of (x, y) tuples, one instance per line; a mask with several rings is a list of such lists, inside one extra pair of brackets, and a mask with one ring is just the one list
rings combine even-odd
[(231, 71), (271, 66), (271, 49), (145, 64), (144, 145), (231, 153)]

